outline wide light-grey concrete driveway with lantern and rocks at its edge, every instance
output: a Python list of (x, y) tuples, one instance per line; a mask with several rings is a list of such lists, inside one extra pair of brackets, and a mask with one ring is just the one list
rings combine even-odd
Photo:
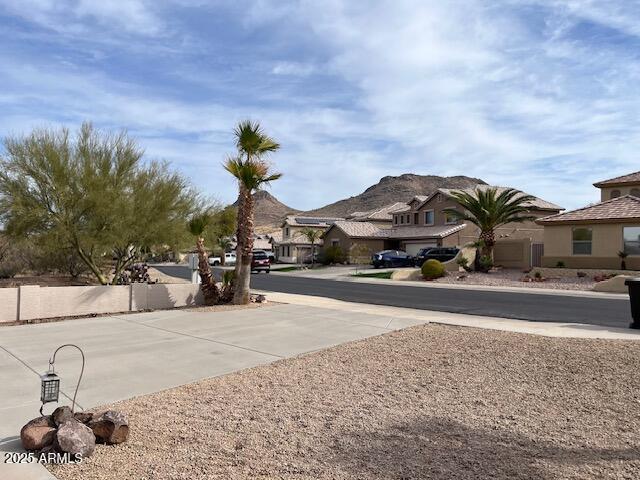
[[(86, 409), (425, 321), (281, 304), (1, 327), (0, 450), (20, 448), (20, 428), (38, 416), (39, 375), (53, 350), (65, 343), (77, 344), (86, 355), (77, 397), (78, 409)], [(61, 404), (71, 404), (80, 362), (75, 349), (58, 353), (56, 371), (66, 397)], [(45, 413), (55, 406), (48, 404)], [(29, 473), (25, 465), (0, 463), (0, 478), (47, 478), (42, 467), (28, 467)]]

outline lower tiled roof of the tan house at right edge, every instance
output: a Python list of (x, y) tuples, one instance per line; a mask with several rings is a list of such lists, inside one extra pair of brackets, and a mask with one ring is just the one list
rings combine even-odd
[(540, 218), (537, 220), (537, 223), (542, 225), (585, 222), (607, 223), (616, 220), (640, 220), (640, 198), (624, 195), (577, 210)]

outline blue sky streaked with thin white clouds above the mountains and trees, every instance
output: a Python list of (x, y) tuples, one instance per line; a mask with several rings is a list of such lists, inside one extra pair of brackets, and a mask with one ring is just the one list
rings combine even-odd
[(0, 0), (0, 135), (126, 128), (223, 202), (232, 128), (309, 209), (464, 174), (567, 208), (640, 170), (635, 0)]

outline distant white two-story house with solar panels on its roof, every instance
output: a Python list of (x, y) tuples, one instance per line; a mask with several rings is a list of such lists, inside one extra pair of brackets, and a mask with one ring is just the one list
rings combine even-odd
[[(282, 263), (301, 263), (311, 259), (311, 242), (305, 237), (305, 229), (325, 232), (334, 222), (344, 220), (333, 217), (306, 217), (289, 215), (281, 225), (280, 235), (272, 237), (273, 251)], [(322, 246), (322, 239), (315, 242), (316, 253)]]

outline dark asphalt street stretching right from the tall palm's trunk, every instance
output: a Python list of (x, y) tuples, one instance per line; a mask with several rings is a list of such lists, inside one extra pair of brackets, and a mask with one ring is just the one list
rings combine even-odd
[(586, 323), (622, 328), (628, 327), (631, 322), (629, 301), (624, 296), (621, 299), (615, 299), (375, 285), (294, 277), (277, 273), (253, 274), (251, 286), (259, 290), (315, 295), (349, 302), (536, 322)]

